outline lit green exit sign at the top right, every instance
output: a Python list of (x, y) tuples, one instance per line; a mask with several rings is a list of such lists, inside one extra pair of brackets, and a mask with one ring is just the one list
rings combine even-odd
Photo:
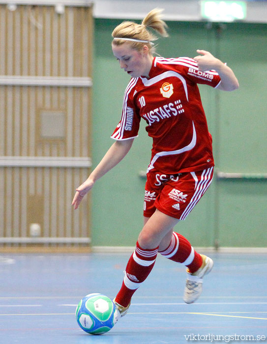
[(201, 1), (202, 18), (233, 22), (246, 18), (246, 1)]

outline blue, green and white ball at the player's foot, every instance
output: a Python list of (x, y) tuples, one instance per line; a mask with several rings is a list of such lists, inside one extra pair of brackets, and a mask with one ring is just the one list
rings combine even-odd
[(92, 335), (108, 332), (119, 318), (114, 302), (100, 293), (86, 295), (76, 308), (78, 325)]

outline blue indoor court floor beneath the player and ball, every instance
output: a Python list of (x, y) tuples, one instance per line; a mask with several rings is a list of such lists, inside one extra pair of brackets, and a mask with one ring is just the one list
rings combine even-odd
[(266, 254), (209, 254), (214, 268), (191, 305), (185, 268), (158, 256), (128, 314), (104, 335), (86, 334), (76, 305), (92, 292), (114, 298), (129, 256), (0, 254), (0, 344), (267, 342)]

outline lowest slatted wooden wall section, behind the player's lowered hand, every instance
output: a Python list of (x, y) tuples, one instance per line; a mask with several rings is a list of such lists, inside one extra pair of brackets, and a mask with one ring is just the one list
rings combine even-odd
[(29, 237), (31, 223), (41, 225), (41, 237), (89, 237), (89, 202), (80, 212), (70, 205), (87, 175), (88, 169), (1, 167), (0, 237)]

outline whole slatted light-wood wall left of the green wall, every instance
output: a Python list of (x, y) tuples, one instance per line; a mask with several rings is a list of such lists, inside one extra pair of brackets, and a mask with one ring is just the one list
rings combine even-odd
[[(89, 202), (75, 212), (70, 205), (89, 165), (31, 162), (23, 167), (6, 165), (4, 158), (90, 157), (92, 28), (91, 7), (66, 6), (59, 15), (54, 6), (19, 5), (10, 11), (0, 5), (2, 246), (22, 245), (20, 238), (30, 237), (32, 221), (41, 226), (40, 238), (89, 238)], [(75, 85), (70, 85), (73, 78)], [(42, 136), (44, 111), (63, 114), (63, 137)]]

